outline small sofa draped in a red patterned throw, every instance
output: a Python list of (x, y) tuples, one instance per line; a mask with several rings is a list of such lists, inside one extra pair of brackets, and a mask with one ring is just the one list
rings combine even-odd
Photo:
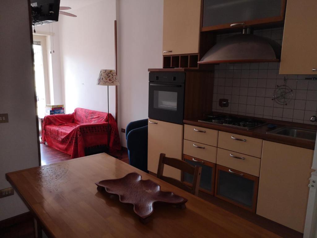
[(76, 108), (72, 114), (48, 115), (42, 124), (42, 141), (71, 158), (85, 156), (85, 149), (108, 144), (108, 116), (110, 152), (121, 150), (118, 126), (111, 114)]

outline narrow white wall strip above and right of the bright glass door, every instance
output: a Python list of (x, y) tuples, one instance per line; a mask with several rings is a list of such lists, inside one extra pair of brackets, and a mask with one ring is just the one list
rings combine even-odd
[[(34, 28), (33, 28), (34, 29)], [(49, 65), (49, 88), (51, 104), (63, 104), (62, 82), (61, 82), (61, 55), (59, 43), (59, 22), (44, 24), (35, 27), (36, 34), (47, 36), (47, 56)], [(50, 53), (52, 51), (52, 53)], [(54, 52), (53, 52), (54, 51)]]

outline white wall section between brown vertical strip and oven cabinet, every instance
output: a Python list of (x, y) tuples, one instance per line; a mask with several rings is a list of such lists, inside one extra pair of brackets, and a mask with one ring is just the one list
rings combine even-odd
[[(148, 68), (162, 68), (163, 0), (117, 0), (119, 131), (148, 118)], [(121, 143), (126, 147), (125, 136)]]

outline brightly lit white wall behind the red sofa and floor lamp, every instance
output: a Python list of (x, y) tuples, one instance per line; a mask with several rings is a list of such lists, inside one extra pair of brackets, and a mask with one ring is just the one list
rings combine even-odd
[[(100, 69), (114, 69), (115, 0), (92, 3), (69, 5), (68, 12), (78, 17), (59, 16), (66, 113), (76, 107), (107, 112), (107, 87), (96, 83)], [(114, 86), (109, 87), (109, 112), (115, 117)]]

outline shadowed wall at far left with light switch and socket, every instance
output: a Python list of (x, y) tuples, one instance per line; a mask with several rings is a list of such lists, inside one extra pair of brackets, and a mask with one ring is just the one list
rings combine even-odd
[[(2, 189), (11, 187), (5, 173), (38, 165), (39, 138), (28, 1), (0, 1), (0, 16), (0, 113), (9, 114), (9, 123), (0, 123)], [(0, 199), (0, 221), (27, 211), (16, 193)]]

